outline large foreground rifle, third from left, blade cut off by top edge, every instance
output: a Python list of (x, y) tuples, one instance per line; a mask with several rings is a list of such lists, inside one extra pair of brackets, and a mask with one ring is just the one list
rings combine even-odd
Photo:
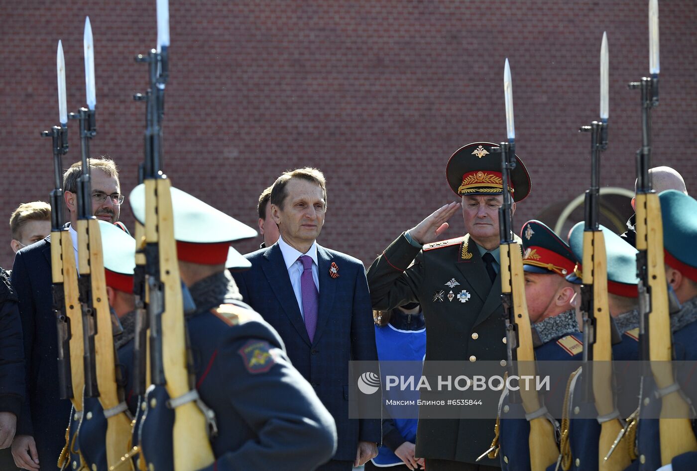
[[(152, 381), (152, 385), (148, 387), (148, 398), (162, 394), (169, 397), (168, 402), (174, 409), (172, 462), (174, 470), (187, 471), (205, 468), (215, 461), (215, 457), (207, 433), (210, 416), (204, 413), (199, 403), (195, 385), (191, 381), (190, 364), (187, 361), (181, 279), (174, 240), (171, 183), (162, 173), (161, 122), (164, 114), (164, 88), (168, 79), (169, 48), (169, 7), (166, 3), (162, 2), (161, 5), (158, 2), (158, 49), (151, 49), (147, 56), (141, 54), (137, 58), (139, 62), (148, 63), (150, 79), (146, 100), (144, 185), (139, 186), (144, 187), (146, 201), (143, 252)], [(160, 9), (160, 6), (165, 8)], [(141, 245), (141, 242), (138, 244)], [(144, 326), (145, 323), (139, 325), (137, 337), (143, 335)], [(142, 373), (140, 374), (142, 376)], [(152, 416), (151, 411), (146, 413), (143, 429), (146, 428), (148, 420), (155, 420)], [(152, 461), (152, 458), (148, 460), (148, 456), (152, 457), (161, 452), (154, 446), (148, 447), (148, 443), (144, 442), (142, 437), (141, 450), (144, 461)]]

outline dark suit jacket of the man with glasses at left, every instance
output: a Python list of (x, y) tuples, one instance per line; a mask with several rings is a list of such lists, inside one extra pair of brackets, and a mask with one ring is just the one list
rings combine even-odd
[(32, 435), (41, 468), (51, 469), (65, 444), (71, 404), (60, 399), (58, 387), (50, 236), (17, 252), (12, 285), (20, 304), (26, 361), (27, 400), (17, 421), (17, 435)]

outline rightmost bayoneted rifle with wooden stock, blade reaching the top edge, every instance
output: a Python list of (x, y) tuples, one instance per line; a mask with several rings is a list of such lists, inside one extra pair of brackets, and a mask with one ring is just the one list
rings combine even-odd
[[(641, 148), (636, 151), (636, 269), (639, 277), (640, 360), (651, 361), (651, 371), (661, 401), (659, 433), (661, 463), (673, 456), (697, 451), (689, 418), (690, 407), (673, 377), (671, 320), (664, 265), (663, 224), (658, 194), (651, 175), (651, 110), (659, 102), (658, 0), (649, 3), (650, 74), (629, 88), (641, 91)], [(642, 378), (644, 384), (645, 378)], [(668, 389), (666, 389), (668, 388)], [(642, 387), (642, 391), (644, 388)], [(670, 392), (668, 392), (670, 391)], [(643, 399), (643, 398), (641, 398)], [(640, 403), (641, 407), (641, 403)], [(684, 418), (668, 418), (684, 417)]]

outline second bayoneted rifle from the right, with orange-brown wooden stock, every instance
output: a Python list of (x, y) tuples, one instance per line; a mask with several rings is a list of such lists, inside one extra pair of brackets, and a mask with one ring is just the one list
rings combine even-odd
[[(590, 188), (585, 192), (585, 226), (583, 231), (583, 401), (595, 401), (600, 424), (598, 469), (622, 471), (631, 463), (629, 449), (613, 448), (625, 424), (615, 407), (612, 378), (611, 319), (608, 307), (607, 256), (605, 238), (599, 226), (600, 153), (607, 148), (608, 135), (608, 56), (607, 36), (603, 33), (600, 52), (600, 118), (579, 132), (590, 132)], [(615, 444), (616, 446), (616, 444)]]

